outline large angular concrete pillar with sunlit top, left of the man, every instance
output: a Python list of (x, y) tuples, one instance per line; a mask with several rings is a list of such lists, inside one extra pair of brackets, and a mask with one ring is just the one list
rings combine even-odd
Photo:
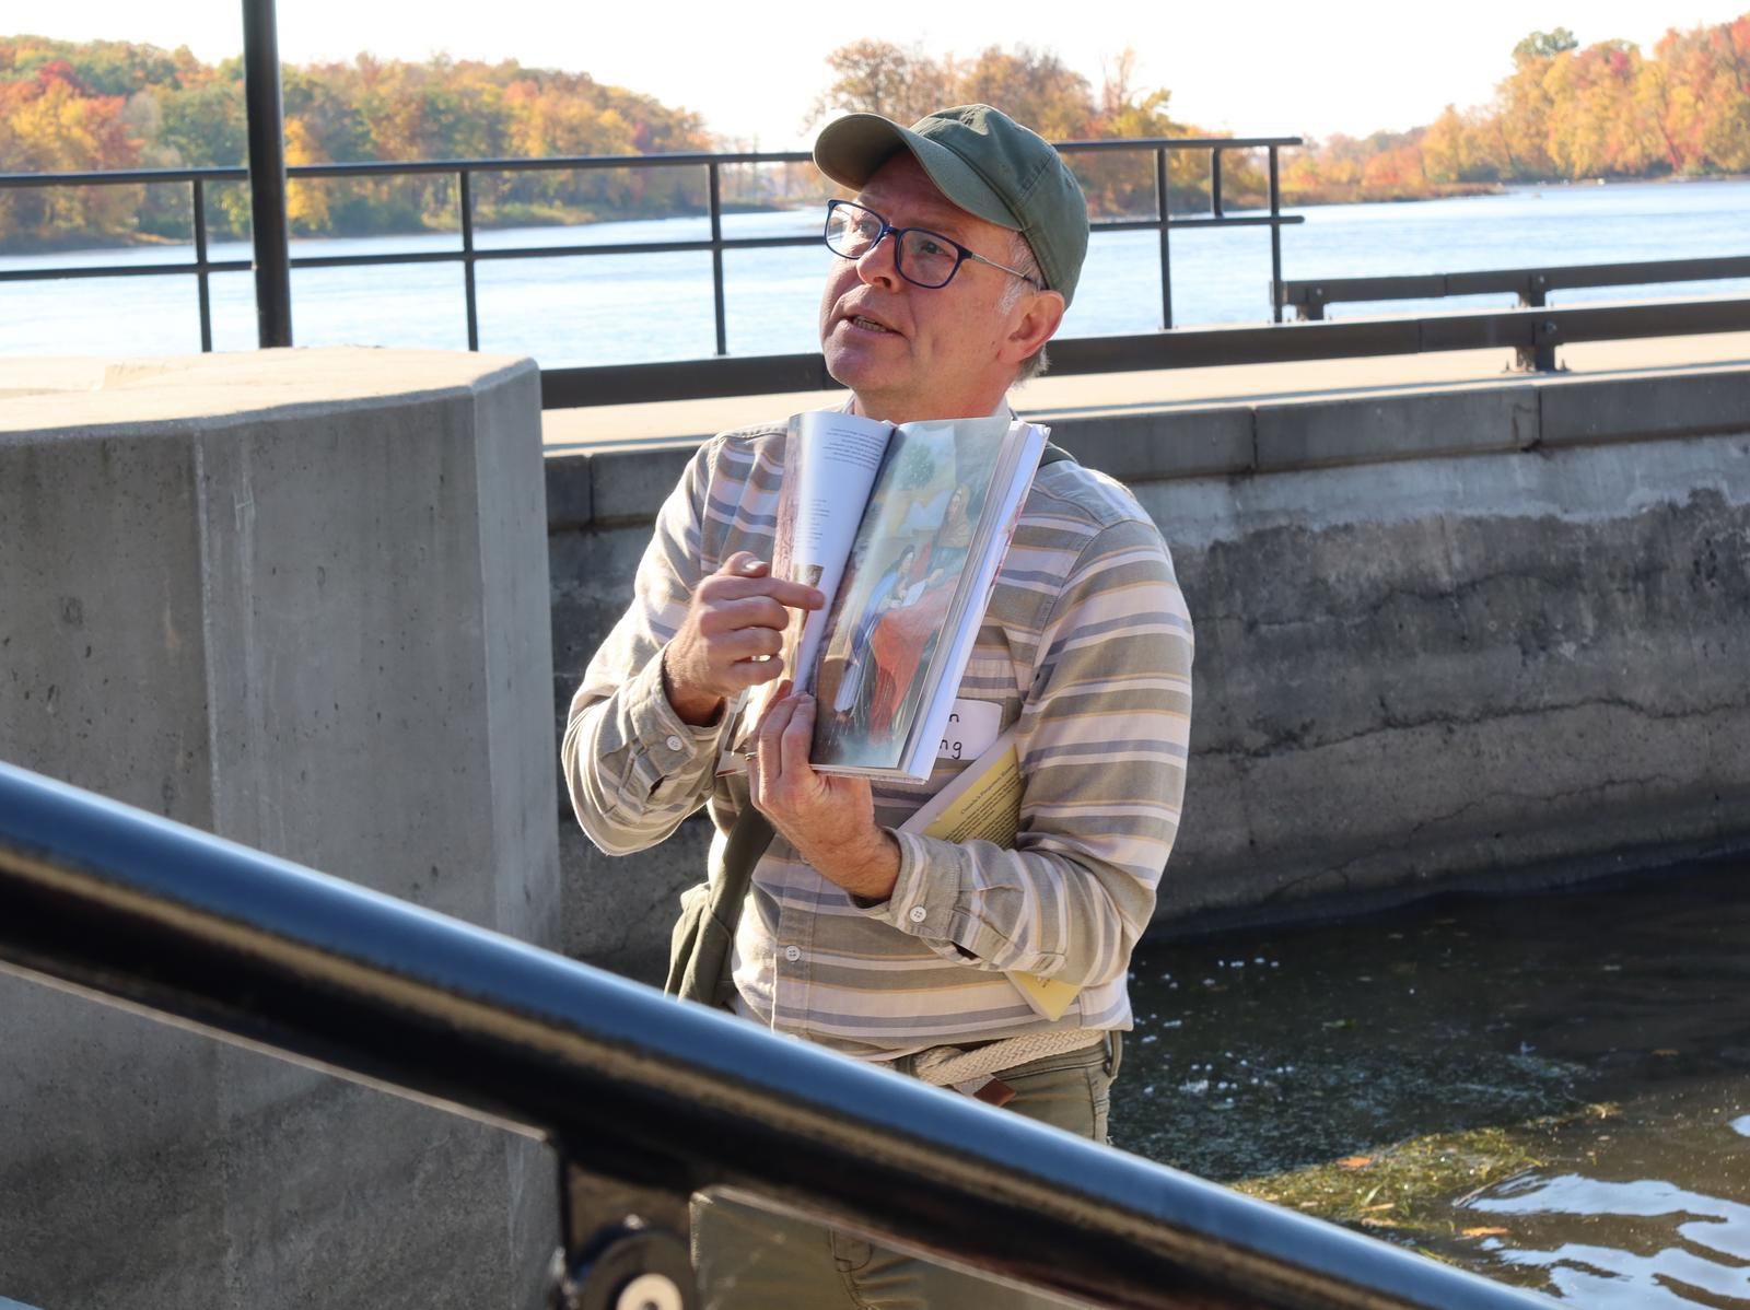
[[(527, 360), (264, 352), (0, 411), (0, 757), (551, 944)], [(0, 978), (0, 1284), (534, 1307), (548, 1154)]]

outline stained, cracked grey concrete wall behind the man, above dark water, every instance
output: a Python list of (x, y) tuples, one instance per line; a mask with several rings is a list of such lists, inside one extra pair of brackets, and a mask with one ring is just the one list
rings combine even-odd
[[(1750, 845), (1750, 371), (1038, 416), (1197, 623), (1160, 929)], [(686, 455), (548, 460), (560, 714)], [(567, 950), (653, 976), (702, 827), (562, 817)]]

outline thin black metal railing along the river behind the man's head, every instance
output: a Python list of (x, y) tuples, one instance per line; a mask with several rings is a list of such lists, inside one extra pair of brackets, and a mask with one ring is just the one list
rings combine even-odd
[[(1169, 261), (1169, 229), (1174, 227), (1260, 227), (1270, 229), (1270, 280), (1283, 276), (1281, 229), (1288, 224), (1304, 222), (1300, 215), (1281, 212), (1279, 189), (1279, 152), (1283, 147), (1300, 145), (1298, 136), (1125, 136), (1116, 140), (1076, 140), (1059, 142), (1057, 149), (1066, 154), (1115, 154), (1148, 150), (1155, 157), (1155, 217), (1153, 219), (1113, 219), (1094, 224), (1096, 233), (1158, 229), (1160, 233), (1160, 311), (1162, 325), (1172, 327), (1172, 273)], [(1174, 219), (1167, 208), (1169, 196), (1169, 156), (1180, 150), (1209, 152), (1209, 217)], [(1228, 150), (1265, 150), (1269, 156), (1269, 206), (1262, 215), (1228, 215), (1222, 198), (1222, 156)], [(772, 247), (814, 245), (819, 236), (775, 236), (775, 238), (724, 238), (723, 236), (723, 168), (735, 164), (794, 164), (812, 159), (805, 150), (677, 150), (672, 154), (586, 154), (555, 156), (546, 159), (424, 159), (424, 161), (369, 161), (352, 164), (296, 164), (287, 168), (292, 180), (303, 178), (346, 178), (346, 177), (402, 177), (453, 173), (457, 177), (457, 210), (462, 245), (457, 250), (443, 252), (399, 252), (385, 255), (329, 255), (299, 257), (290, 261), (290, 268), (343, 268), (354, 264), (462, 264), (462, 299), (467, 311), (467, 348), (480, 350), (480, 308), (474, 292), (474, 266), (492, 259), (556, 259), (565, 255), (625, 255), (625, 254), (670, 254), (677, 250), (710, 252), (710, 287), (716, 327), (716, 353), (728, 355), (728, 311), (723, 294), (723, 252), (724, 250), (760, 250)], [(602, 168), (705, 168), (707, 173), (707, 217), (710, 220), (710, 238), (705, 241), (635, 241), (625, 245), (564, 245), (564, 247), (520, 247), (520, 248), (480, 248), (474, 243), (474, 206), (472, 184), (476, 173), (532, 173), (532, 171), (592, 171)], [(124, 266), (75, 266), (46, 269), (12, 269), (0, 273), (0, 282), (47, 282), (58, 278), (91, 276), (161, 276), (170, 273), (192, 273), (200, 283), (201, 315), (201, 350), (212, 350), (212, 310), (208, 278), (214, 273), (233, 273), (250, 268), (236, 261), (212, 262), (206, 250), (206, 212), (205, 185), (212, 182), (242, 182), (248, 178), (247, 168), (135, 168), (112, 173), (0, 173), (0, 191), (9, 187), (60, 187), (60, 185), (163, 185), (187, 182), (192, 187), (191, 203), (194, 206), (194, 259), (192, 262), (161, 264), (124, 264)], [(1281, 322), (1281, 310), (1272, 310)]]

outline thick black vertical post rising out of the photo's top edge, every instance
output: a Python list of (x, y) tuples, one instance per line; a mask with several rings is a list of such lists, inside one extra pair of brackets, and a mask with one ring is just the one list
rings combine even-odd
[(248, 226), (256, 240), (256, 339), (292, 345), (292, 255), (285, 222), (285, 119), (273, 0), (243, 0), (248, 105)]

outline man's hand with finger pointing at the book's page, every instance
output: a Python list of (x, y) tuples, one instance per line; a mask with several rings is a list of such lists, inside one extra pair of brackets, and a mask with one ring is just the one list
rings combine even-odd
[(724, 700), (782, 673), (765, 656), (784, 649), (789, 610), (826, 603), (816, 588), (768, 574), (765, 560), (737, 551), (693, 593), (662, 652), (663, 691), (682, 722), (716, 722)]

